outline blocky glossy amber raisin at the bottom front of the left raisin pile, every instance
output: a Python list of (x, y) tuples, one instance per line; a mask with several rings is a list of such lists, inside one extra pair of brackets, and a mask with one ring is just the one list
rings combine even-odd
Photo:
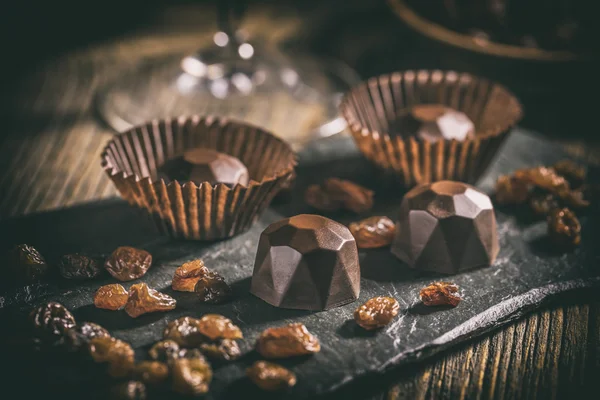
[(171, 373), (175, 392), (193, 396), (208, 392), (212, 370), (205, 360), (180, 358), (173, 362)]

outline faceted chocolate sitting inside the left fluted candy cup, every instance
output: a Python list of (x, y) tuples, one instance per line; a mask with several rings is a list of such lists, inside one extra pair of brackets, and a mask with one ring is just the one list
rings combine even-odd
[(183, 156), (167, 161), (159, 176), (167, 181), (192, 181), (196, 185), (224, 183), (229, 186), (247, 185), (248, 169), (237, 158), (213, 149), (196, 148)]

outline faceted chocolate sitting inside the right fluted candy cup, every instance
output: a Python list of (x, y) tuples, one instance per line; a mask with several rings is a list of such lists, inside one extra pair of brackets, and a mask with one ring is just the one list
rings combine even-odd
[(465, 140), (475, 135), (475, 125), (464, 113), (440, 104), (420, 104), (400, 112), (390, 132), (435, 142)]

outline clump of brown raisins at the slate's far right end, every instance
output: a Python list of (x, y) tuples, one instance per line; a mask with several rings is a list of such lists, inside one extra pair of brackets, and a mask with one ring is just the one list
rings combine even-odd
[(496, 182), (496, 200), (503, 205), (527, 204), (533, 215), (547, 218), (552, 242), (568, 249), (581, 241), (580, 224), (574, 210), (589, 206), (586, 171), (563, 160), (551, 167), (525, 168)]

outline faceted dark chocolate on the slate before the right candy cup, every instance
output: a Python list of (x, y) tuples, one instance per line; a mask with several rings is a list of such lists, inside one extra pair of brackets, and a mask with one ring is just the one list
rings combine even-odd
[(489, 266), (500, 247), (490, 198), (461, 182), (421, 185), (404, 196), (392, 253), (446, 274)]

